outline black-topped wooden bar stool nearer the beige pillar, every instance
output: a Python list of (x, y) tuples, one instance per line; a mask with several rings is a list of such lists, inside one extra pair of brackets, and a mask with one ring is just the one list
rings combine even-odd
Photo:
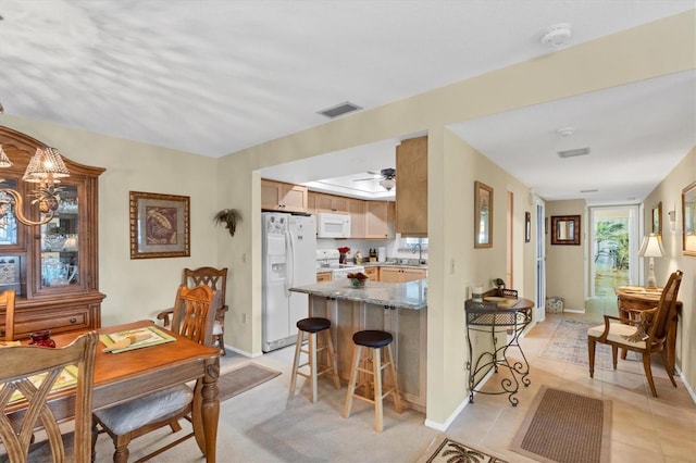
[[(394, 355), (391, 354), (393, 337), (387, 331), (368, 329), (358, 331), (352, 335), (352, 341), (356, 345), (352, 353), (352, 372), (350, 374), (350, 383), (348, 385), (348, 393), (346, 396), (346, 405), (344, 408), (344, 416), (350, 416), (352, 409), (352, 398), (374, 403), (375, 429), (382, 433), (383, 428), (383, 406), (382, 402), (389, 393), (394, 396), (394, 406), (398, 413), (401, 413), (401, 396), (396, 379), (396, 368), (394, 366)], [(362, 358), (362, 348), (368, 348), (368, 355)], [(382, 362), (382, 350), (384, 349), (384, 362)], [(360, 366), (361, 363), (372, 363), (372, 367)], [(382, 371), (388, 368), (390, 385), (386, 390), (382, 387)], [(356, 385), (358, 380), (358, 372), (361, 375), (361, 383)], [(370, 381), (370, 377), (372, 381)], [(373, 387), (370, 387), (372, 384)], [(363, 388), (363, 393), (358, 393), (358, 388)]]

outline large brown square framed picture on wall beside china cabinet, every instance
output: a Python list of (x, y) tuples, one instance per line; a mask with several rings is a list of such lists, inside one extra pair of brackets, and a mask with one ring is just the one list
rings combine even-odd
[(190, 198), (130, 191), (130, 259), (190, 255)]

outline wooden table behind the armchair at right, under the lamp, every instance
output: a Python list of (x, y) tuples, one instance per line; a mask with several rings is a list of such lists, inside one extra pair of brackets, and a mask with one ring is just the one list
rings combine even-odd
[[(635, 320), (637, 314), (644, 310), (655, 309), (660, 302), (661, 290), (648, 291), (639, 286), (618, 286), (614, 289), (617, 293), (617, 305), (619, 306), (619, 316)], [(679, 315), (682, 313), (682, 302), (676, 301), (676, 313), (670, 314), (669, 328), (667, 331), (667, 365), (674, 373), (674, 364), (676, 363), (676, 323)], [(621, 351), (621, 358), (626, 358), (626, 351)]]

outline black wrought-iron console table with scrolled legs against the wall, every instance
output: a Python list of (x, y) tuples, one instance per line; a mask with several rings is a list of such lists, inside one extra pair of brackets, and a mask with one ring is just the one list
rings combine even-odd
[[(506, 290), (512, 295), (511, 290)], [(517, 292), (517, 291), (514, 291)], [(506, 295), (507, 296), (507, 295)], [(467, 311), (467, 341), (469, 343), (469, 402), (474, 401), (474, 392), (488, 395), (508, 395), (508, 400), (512, 406), (519, 403), (515, 395), (520, 389), (520, 383), (527, 387), (532, 381), (527, 378), (530, 374), (530, 363), (520, 347), (520, 335), (532, 322), (532, 311), (534, 302), (529, 299), (518, 299), (514, 296), (508, 297), (484, 297), (481, 302), (468, 300), (464, 302)], [(478, 355), (473, 361), (473, 348), (471, 336), (473, 333), (485, 333), (490, 335), (492, 348)], [(507, 337), (504, 346), (498, 346), (498, 334)], [(509, 359), (508, 349), (519, 350), (522, 361)], [(498, 373), (499, 367), (505, 367), (510, 372), (510, 377), (506, 376), (500, 380), (500, 390), (483, 391), (476, 389), (476, 375), (483, 371), (494, 368)]]

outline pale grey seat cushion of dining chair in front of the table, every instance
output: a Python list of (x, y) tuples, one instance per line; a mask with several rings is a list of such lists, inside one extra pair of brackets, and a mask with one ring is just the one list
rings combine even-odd
[(179, 385), (99, 410), (95, 415), (113, 434), (122, 436), (146, 424), (177, 415), (191, 400), (194, 391), (186, 385)]

